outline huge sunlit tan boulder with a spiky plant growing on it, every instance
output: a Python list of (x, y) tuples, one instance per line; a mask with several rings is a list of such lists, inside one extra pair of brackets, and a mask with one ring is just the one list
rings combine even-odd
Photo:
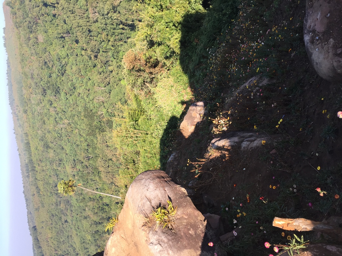
[[(150, 218), (152, 210), (160, 204), (167, 205), (168, 200), (177, 206), (173, 232), (168, 228), (155, 229), (156, 223)], [(185, 189), (164, 171), (152, 170), (138, 175), (129, 187), (104, 256), (212, 256), (218, 253), (217, 241)], [(214, 246), (209, 246), (209, 242)]]

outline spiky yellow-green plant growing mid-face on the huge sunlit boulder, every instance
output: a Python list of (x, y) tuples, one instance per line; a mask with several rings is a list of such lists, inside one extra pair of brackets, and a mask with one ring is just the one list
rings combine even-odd
[(172, 202), (168, 201), (168, 209), (165, 206), (158, 207), (158, 209), (152, 211), (151, 215), (153, 219), (156, 221), (155, 230), (159, 226), (168, 227), (171, 231), (173, 231), (173, 224), (175, 222), (175, 215), (177, 213), (177, 206), (173, 208)]

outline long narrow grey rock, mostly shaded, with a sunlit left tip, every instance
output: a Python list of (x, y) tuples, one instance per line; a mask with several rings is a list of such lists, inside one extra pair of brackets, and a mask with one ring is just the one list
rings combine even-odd
[(281, 135), (268, 136), (266, 133), (257, 134), (256, 132), (227, 132), (221, 138), (215, 138), (210, 142), (210, 146), (214, 149), (229, 148), (231, 146), (239, 146), (241, 150), (251, 150), (255, 147), (262, 146), (262, 141), (266, 143), (279, 141), (283, 139)]

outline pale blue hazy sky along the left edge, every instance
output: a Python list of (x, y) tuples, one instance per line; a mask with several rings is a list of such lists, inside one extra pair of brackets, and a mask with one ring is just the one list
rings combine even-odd
[(19, 156), (9, 105), (7, 54), (3, 46), (5, 19), (0, 7), (0, 252), (1, 255), (33, 256), (28, 229)]

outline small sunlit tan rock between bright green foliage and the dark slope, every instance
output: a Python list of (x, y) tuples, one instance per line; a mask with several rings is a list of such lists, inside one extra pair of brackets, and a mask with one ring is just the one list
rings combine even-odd
[(205, 114), (206, 102), (199, 101), (193, 103), (181, 123), (180, 130), (185, 138), (188, 138), (195, 130), (198, 122), (202, 120), (202, 116)]

